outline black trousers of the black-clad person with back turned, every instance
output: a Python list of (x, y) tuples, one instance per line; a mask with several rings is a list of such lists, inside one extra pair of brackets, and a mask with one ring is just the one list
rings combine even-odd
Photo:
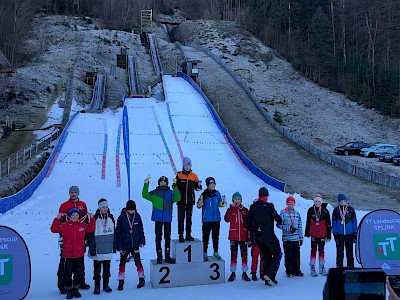
[(264, 274), (270, 279), (275, 280), (276, 273), (278, 273), (279, 263), (281, 260), (281, 247), (279, 241), (264, 241), (257, 240), (257, 245), (263, 255)]

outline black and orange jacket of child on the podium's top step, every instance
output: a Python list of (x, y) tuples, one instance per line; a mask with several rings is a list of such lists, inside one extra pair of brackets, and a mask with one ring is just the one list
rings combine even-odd
[(176, 186), (181, 193), (181, 199), (178, 205), (189, 206), (194, 205), (195, 201), (195, 190), (201, 190), (199, 186), (199, 178), (195, 173), (186, 170), (182, 170), (176, 174)]

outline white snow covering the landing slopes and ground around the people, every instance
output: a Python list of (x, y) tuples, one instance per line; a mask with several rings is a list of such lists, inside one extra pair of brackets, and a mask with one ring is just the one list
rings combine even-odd
[[(199, 179), (205, 181), (208, 176), (216, 179), (216, 188), (225, 194), (228, 201), (231, 195), (239, 191), (247, 207), (257, 197), (258, 189), (266, 186), (264, 182), (247, 171), (238, 161), (215, 124), (204, 100), (181, 78), (164, 76), (166, 101), (156, 99), (128, 99), (130, 126), (130, 170), (131, 196), (141, 214), (146, 235), (146, 246), (141, 256), (146, 274), (146, 286), (137, 290), (137, 274), (133, 263), (127, 265), (125, 289), (117, 291), (117, 272), (119, 255), (114, 255), (111, 263), (111, 294), (93, 294), (93, 264), (85, 258), (86, 281), (92, 288), (82, 291), (86, 299), (321, 299), (326, 278), (309, 275), (310, 241), (305, 239), (301, 247), (301, 269), (303, 278), (287, 278), (283, 262), (281, 263), (275, 287), (267, 287), (262, 281), (244, 282), (237, 279), (233, 283), (207, 286), (188, 286), (180, 288), (153, 289), (150, 279), (150, 259), (155, 258), (154, 223), (151, 218), (151, 203), (142, 199), (143, 180), (150, 174), (150, 187), (155, 188), (161, 175), (174, 177), (173, 164), (180, 169), (181, 154), (189, 156), (193, 170)], [(169, 113), (171, 118), (169, 118)], [(32, 282), (27, 299), (64, 299), (57, 289), (57, 267), (59, 262), (58, 236), (50, 232), (50, 225), (57, 215), (60, 204), (68, 199), (71, 185), (80, 187), (80, 198), (90, 211), (97, 208), (97, 201), (105, 197), (109, 201), (115, 217), (128, 200), (128, 182), (123, 146), (119, 127), (122, 110), (105, 111), (103, 114), (80, 114), (68, 129), (68, 136), (49, 178), (44, 179), (33, 196), (0, 215), (0, 224), (15, 229), (25, 239), (30, 251), (32, 264)], [(173, 126), (172, 126), (173, 125)], [(175, 129), (177, 140), (174, 137)], [(165, 138), (163, 141), (162, 136)], [(119, 147), (118, 147), (119, 145)], [(105, 161), (103, 164), (103, 155)], [(120, 158), (117, 164), (116, 155)], [(172, 163), (173, 162), (173, 163)], [(120, 170), (121, 185), (118, 184)], [(104, 179), (102, 179), (104, 171)], [(268, 186), (270, 201), (278, 212), (285, 207), (288, 194)], [(199, 194), (197, 194), (199, 196)], [(296, 209), (305, 223), (307, 209), (312, 202), (294, 195)], [(333, 207), (328, 207), (332, 211)], [(222, 215), (226, 208), (221, 209)], [(357, 212), (358, 219), (366, 212)], [(280, 230), (276, 229), (278, 237)], [(193, 236), (201, 239), (201, 214), (194, 209)], [(229, 276), (230, 250), (228, 224), (221, 222), (220, 253), (225, 259), (226, 279)], [(177, 216), (174, 210), (172, 238), (177, 236)], [(210, 249), (210, 247), (209, 247)], [(211, 252), (211, 250), (209, 250)], [(335, 266), (335, 245), (326, 246), (326, 265)], [(211, 253), (209, 253), (211, 254)], [(249, 251), (250, 258), (250, 251)], [(240, 259), (239, 259), (240, 260)], [(239, 268), (238, 268), (239, 269)], [(237, 271), (237, 274), (240, 270)], [(196, 274), (188, 274), (196, 276)]]

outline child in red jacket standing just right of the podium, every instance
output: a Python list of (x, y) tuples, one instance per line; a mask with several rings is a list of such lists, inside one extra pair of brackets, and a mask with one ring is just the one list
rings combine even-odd
[(242, 256), (242, 279), (250, 281), (247, 276), (247, 242), (250, 241), (250, 233), (247, 230), (247, 215), (249, 210), (242, 205), (242, 195), (236, 192), (232, 195), (232, 204), (225, 213), (225, 221), (229, 223), (228, 239), (231, 243), (231, 276), (228, 281), (232, 282), (236, 279), (236, 266), (238, 248), (240, 247), (240, 255)]

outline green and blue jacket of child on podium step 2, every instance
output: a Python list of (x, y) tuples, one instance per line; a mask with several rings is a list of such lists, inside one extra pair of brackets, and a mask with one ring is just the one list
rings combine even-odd
[(143, 185), (142, 197), (153, 204), (152, 221), (171, 222), (172, 204), (181, 199), (177, 187), (173, 186), (172, 191), (168, 186), (158, 186), (149, 193), (149, 183)]

